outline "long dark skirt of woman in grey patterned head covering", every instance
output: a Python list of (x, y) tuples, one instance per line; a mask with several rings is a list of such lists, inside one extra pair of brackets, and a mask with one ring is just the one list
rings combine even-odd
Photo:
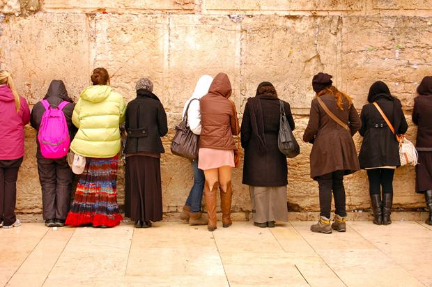
[(132, 220), (162, 220), (160, 159), (144, 155), (126, 157), (125, 216)]

